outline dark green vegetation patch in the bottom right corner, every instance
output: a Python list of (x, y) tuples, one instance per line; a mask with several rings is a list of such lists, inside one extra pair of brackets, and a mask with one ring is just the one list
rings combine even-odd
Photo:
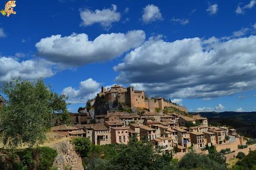
[(250, 151), (250, 153), (242, 158), (241, 161), (238, 161), (237, 164), (232, 167), (232, 169), (256, 169), (256, 151)]

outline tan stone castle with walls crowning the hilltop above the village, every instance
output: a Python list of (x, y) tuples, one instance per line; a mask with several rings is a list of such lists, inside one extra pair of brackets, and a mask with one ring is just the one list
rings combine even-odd
[(163, 110), (165, 107), (174, 107), (183, 112), (188, 112), (186, 107), (178, 106), (169, 101), (165, 101), (164, 98), (146, 98), (144, 91), (135, 91), (134, 87), (124, 88), (120, 85), (112, 86), (106, 89), (101, 87), (101, 96), (104, 96), (107, 103), (125, 103), (130, 108), (140, 107), (155, 112), (156, 108)]

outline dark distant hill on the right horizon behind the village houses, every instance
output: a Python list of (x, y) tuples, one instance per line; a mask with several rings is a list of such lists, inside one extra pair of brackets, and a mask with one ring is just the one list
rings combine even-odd
[[(190, 112), (189, 114), (198, 114)], [(209, 124), (224, 125), (237, 129), (244, 136), (256, 138), (256, 112), (199, 112)]]

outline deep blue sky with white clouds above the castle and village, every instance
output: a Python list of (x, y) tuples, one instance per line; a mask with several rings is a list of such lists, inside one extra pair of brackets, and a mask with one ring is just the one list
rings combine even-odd
[(189, 111), (256, 110), (254, 0), (16, 5), (0, 16), (0, 82), (43, 77), (73, 112), (112, 84)]

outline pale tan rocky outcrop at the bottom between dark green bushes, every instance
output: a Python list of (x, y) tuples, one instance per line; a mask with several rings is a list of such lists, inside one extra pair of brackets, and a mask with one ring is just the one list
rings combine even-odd
[(61, 169), (83, 170), (82, 159), (76, 153), (70, 141), (56, 143), (52, 148), (56, 149), (58, 156), (53, 162), (53, 167)]

